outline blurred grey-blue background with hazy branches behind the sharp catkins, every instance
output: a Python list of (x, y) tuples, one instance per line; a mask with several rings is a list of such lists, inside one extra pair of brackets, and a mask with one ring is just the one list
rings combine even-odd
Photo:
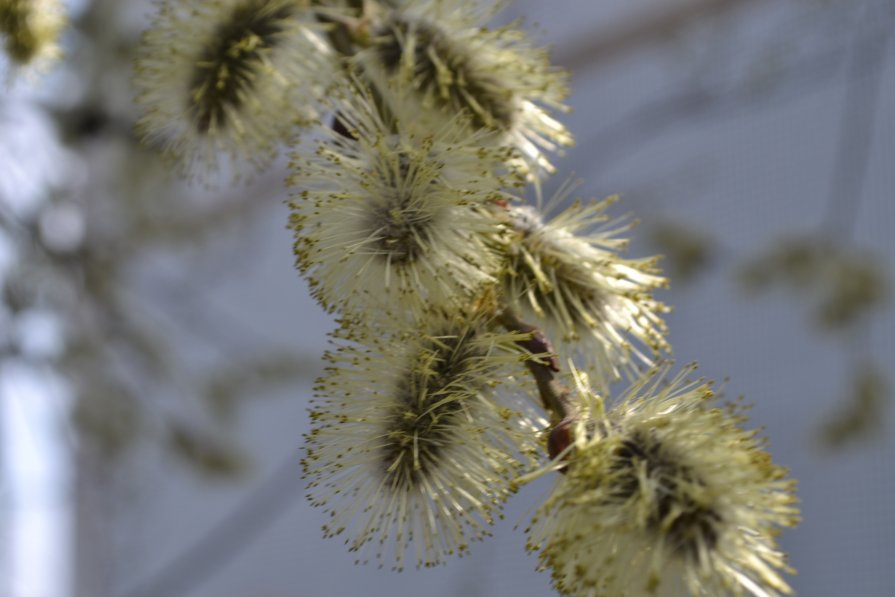
[[(524, 527), (395, 574), (323, 540), (298, 460), (333, 322), (292, 266), (286, 159), (168, 173), (133, 135), (153, 3), (69, 0), (0, 62), (0, 597), (551, 595)], [(620, 193), (665, 255), (674, 356), (752, 403), (803, 596), (895, 594), (895, 2), (517, 0), (572, 72), (548, 192)]]

